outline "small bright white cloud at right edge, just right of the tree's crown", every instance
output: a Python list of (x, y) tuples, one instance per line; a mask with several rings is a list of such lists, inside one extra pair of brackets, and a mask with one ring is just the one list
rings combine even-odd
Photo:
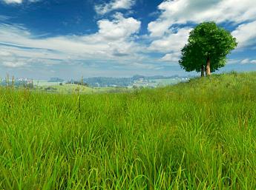
[(246, 47), (256, 44), (256, 21), (241, 24), (232, 35), (237, 38), (239, 47)]

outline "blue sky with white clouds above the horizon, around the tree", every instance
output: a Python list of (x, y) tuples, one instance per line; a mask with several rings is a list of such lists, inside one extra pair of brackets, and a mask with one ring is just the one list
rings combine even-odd
[(0, 78), (196, 75), (178, 61), (203, 21), (238, 41), (219, 72), (256, 71), (255, 0), (0, 0)]

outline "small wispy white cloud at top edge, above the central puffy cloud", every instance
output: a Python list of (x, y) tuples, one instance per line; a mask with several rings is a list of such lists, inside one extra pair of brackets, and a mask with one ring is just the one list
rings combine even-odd
[(96, 4), (94, 8), (99, 15), (105, 15), (112, 10), (131, 9), (134, 4), (135, 0), (111, 0), (109, 3)]

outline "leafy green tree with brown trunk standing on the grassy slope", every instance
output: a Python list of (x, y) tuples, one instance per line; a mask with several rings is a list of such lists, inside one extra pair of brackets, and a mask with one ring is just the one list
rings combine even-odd
[(179, 64), (187, 72), (201, 72), (201, 76), (211, 75), (226, 64), (226, 55), (237, 47), (236, 38), (218, 27), (213, 21), (203, 22), (188, 37), (188, 44), (181, 50)]

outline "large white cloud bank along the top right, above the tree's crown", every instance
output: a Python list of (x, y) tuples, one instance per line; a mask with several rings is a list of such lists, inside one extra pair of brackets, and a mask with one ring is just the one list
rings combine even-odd
[(158, 6), (162, 11), (156, 21), (148, 24), (152, 36), (168, 33), (173, 24), (202, 21), (224, 21), (239, 24), (256, 18), (256, 1), (252, 0), (168, 0)]

